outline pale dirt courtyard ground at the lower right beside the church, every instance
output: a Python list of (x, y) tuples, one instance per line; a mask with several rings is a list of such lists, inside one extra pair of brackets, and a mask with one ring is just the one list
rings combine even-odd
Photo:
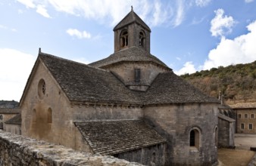
[(256, 147), (256, 134), (235, 134), (236, 149), (218, 149), (218, 166), (248, 165), (255, 152), (250, 147)]

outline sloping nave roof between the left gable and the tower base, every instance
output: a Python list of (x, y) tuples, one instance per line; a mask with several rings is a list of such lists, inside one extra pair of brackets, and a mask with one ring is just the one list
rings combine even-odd
[(111, 72), (83, 63), (39, 53), (70, 101), (138, 103), (133, 91), (126, 88)]

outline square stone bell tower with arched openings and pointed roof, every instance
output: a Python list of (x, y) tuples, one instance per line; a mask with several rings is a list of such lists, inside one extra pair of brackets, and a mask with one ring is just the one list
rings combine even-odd
[(114, 27), (114, 52), (138, 47), (150, 52), (151, 29), (132, 10)]

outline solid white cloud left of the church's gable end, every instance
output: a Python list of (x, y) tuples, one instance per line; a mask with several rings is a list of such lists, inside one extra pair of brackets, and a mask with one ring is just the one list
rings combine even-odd
[(36, 57), (0, 48), (0, 100), (20, 100)]

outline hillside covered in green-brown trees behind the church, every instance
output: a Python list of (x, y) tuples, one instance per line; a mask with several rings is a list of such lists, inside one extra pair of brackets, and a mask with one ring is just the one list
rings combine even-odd
[(180, 76), (211, 97), (221, 91), (229, 104), (256, 101), (256, 61)]

